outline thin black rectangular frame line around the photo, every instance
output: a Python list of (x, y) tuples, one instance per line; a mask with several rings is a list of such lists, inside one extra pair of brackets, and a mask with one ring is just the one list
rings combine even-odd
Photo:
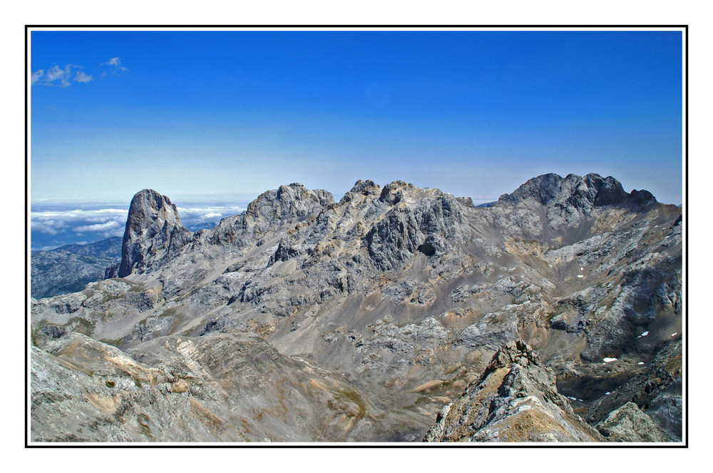
[[(146, 443), (146, 444), (97, 444), (97, 443), (91, 443), (91, 444), (61, 444), (61, 443), (48, 443), (48, 444), (39, 444), (39, 443), (31, 443), (29, 442), (29, 432), (30, 432), (30, 425), (29, 425), (29, 372), (30, 372), (30, 366), (29, 366), (29, 320), (30, 320), (30, 310), (29, 310), (29, 304), (27, 302), (29, 301), (29, 263), (30, 263), (30, 253), (29, 253), (29, 233), (28, 233), (28, 223), (29, 223), (29, 141), (28, 141), (28, 120), (29, 120), (29, 109), (28, 109), (28, 98), (29, 98), (29, 88), (28, 88), (28, 66), (29, 66), (29, 54), (28, 54), (28, 38), (29, 38), (29, 33), (31, 32), (31, 29), (40, 29), (40, 28), (58, 28), (58, 29), (94, 29), (94, 28), (107, 28), (107, 29), (137, 29), (137, 31), (140, 31), (140, 29), (149, 29), (149, 28), (155, 28), (155, 29), (168, 29), (168, 28), (196, 28), (196, 29), (205, 29), (205, 31), (210, 31), (210, 29), (219, 29), (219, 28), (230, 28), (230, 29), (257, 29), (257, 28), (274, 28), (274, 29), (287, 29), (287, 28), (292, 28), (292, 29), (308, 29), (308, 28), (319, 28), (319, 29), (329, 29), (329, 28), (341, 28), (341, 29), (361, 29), (361, 28), (384, 28), (384, 29), (406, 29), (406, 28), (423, 28), (423, 29), (457, 29), (457, 28), (462, 28), (462, 29), (476, 29), (476, 28), (481, 28), (481, 29), (486, 29), (486, 28), (492, 28), (492, 29), (506, 29), (506, 28), (511, 28), (511, 29), (517, 29), (517, 28), (522, 28), (522, 29), (546, 29), (546, 28), (553, 28), (553, 29), (581, 29), (581, 28), (591, 28), (591, 29), (604, 29), (604, 28), (610, 28), (610, 29), (652, 29), (652, 28), (672, 28), (672, 29), (682, 29), (683, 33), (683, 42), (684, 42), (684, 71), (686, 73), (685, 76), (685, 93), (684, 93), (684, 103), (686, 106), (685, 109), (685, 126), (684, 126), (684, 156), (683, 156), (683, 163), (684, 163), (684, 183), (685, 183), (685, 190), (684, 190), (684, 203), (683, 203), (683, 208), (682, 208), (682, 213), (684, 213), (684, 225), (685, 225), (685, 237), (684, 237), (684, 242), (685, 244), (685, 250), (684, 250), (684, 255), (683, 255), (683, 260), (685, 261), (685, 268), (684, 268), (684, 275), (685, 275), (685, 280), (686, 280), (686, 287), (683, 289), (684, 290), (684, 327), (685, 327), (685, 332), (684, 332), (684, 353), (685, 353), (685, 360), (686, 364), (684, 365), (684, 385), (686, 387), (685, 390), (685, 412), (684, 412), (684, 418), (686, 419), (685, 422), (685, 435), (684, 435), (684, 442), (682, 444), (652, 444), (652, 445), (646, 445), (646, 444), (635, 444), (635, 445), (630, 445), (630, 444), (612, 444), (612, 443), (606, 443), (606, 444), (542, 444), (542, 443), (535, 443), (533, 442), (532, 444), (515, 444), (515, 445), (510, 445), (510, 444), (492, 444), (492, 443), (459, 443), (459, 444), (451, 444), (451, 443), (441, 443), (441, 444), (426, 444), (426, 443), (419, 443), (419, 442), (414, 442), (414, 443), (394, 443), (394, 444), (360, 444), (360, 443), (340, 443), (340, 444), (320, 444), (319, 442), (314, 442), (314, 444), (250, 444), (245, 443), (245, 444), (239, 444), (239, 443), (230, 443), (230, 444), (159, 444), (159, 443)], [(88, 24), (26, 24), (25, 25), (25, 302), (26, 302), (26, 311), (25, 311), (25, 448), (64, 448), (64, 449), (71, 449), (71, 448), (426, 448), (426, 449), (441, 449), (441, 448), (491, 448), (491, 449), (497, 449), (497, 448), (505, 448), (505, 449), (518, 449), (518, 448), (545, 448), (545, 449), (570, 449), (570, 448), (579, 448), (579, 449), (588, 449), (588, 448), (593, 448), (593, 449), (657, 449), (657, 448), (664, 448), (664, 449), (680, 449), (680, 448), (689, 448), (689, 384), (688, 384), (688, 362), (689, 362), (689, 352), (688, 352), (688, 232), (689, 232), (689, 227), (688, 227), (688, 118), (689, 118), (689, 113), (688, 113), (688, 29), (689, 25), (687, 24), (681, 24), (681, 25), (670, 25), (670, 24), (609, 24), (609, 25), (603, 25), (603, 24), (571, 24), (571, 25), (562, 25), (562, 24), (545, 24), (545, 25), (522, 25), (522, 24), (513, 24), (513, 25), (463, 25), (463, 24), (458, 24), (458, 25), (433, 25), (433, 24), (336, 24), (336, 25), (324, 25), (324, 24), (288, 24), (288, 25), (270, 25), (270, 24), (252, 24), (252, 25), (226, 25), (226, 24), (211, 24), (211, 25), (190, 25), (190, 24), (178, 24), (178, 25), (167, 25), (167, 24), (147, 24), (147, 25), (116, 25), (116, 24), (94, 24), (94, 25), (88, 25)], [(535, 30), (537, 31), (537, 30)]]

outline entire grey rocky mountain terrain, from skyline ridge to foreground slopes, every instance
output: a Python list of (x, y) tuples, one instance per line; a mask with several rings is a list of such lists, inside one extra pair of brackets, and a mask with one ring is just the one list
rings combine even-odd
[(141, 190), (120, 253), (31, 300), (33, 442), (683, 439), (681, 208), (611, 177)]

